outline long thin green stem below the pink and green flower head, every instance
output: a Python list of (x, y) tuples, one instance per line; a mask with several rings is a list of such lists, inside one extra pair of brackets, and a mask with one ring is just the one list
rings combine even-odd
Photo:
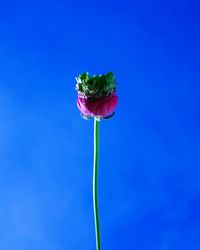
[(99, 161), (99, 121), (94, 117), (94, 166), (93, 166), (93, 206), (96, 234), (96, 250), (101, 250), (98, 214), (98, 161)]

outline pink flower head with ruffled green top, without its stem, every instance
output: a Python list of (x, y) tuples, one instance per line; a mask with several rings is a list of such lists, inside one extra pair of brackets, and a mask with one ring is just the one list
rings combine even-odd
[(118, 103), (116, 81), (112, 72), (93, 77), (83, 73), (76, 78), (77, 106), (83, 118), (106, 119), (114, 114)]

